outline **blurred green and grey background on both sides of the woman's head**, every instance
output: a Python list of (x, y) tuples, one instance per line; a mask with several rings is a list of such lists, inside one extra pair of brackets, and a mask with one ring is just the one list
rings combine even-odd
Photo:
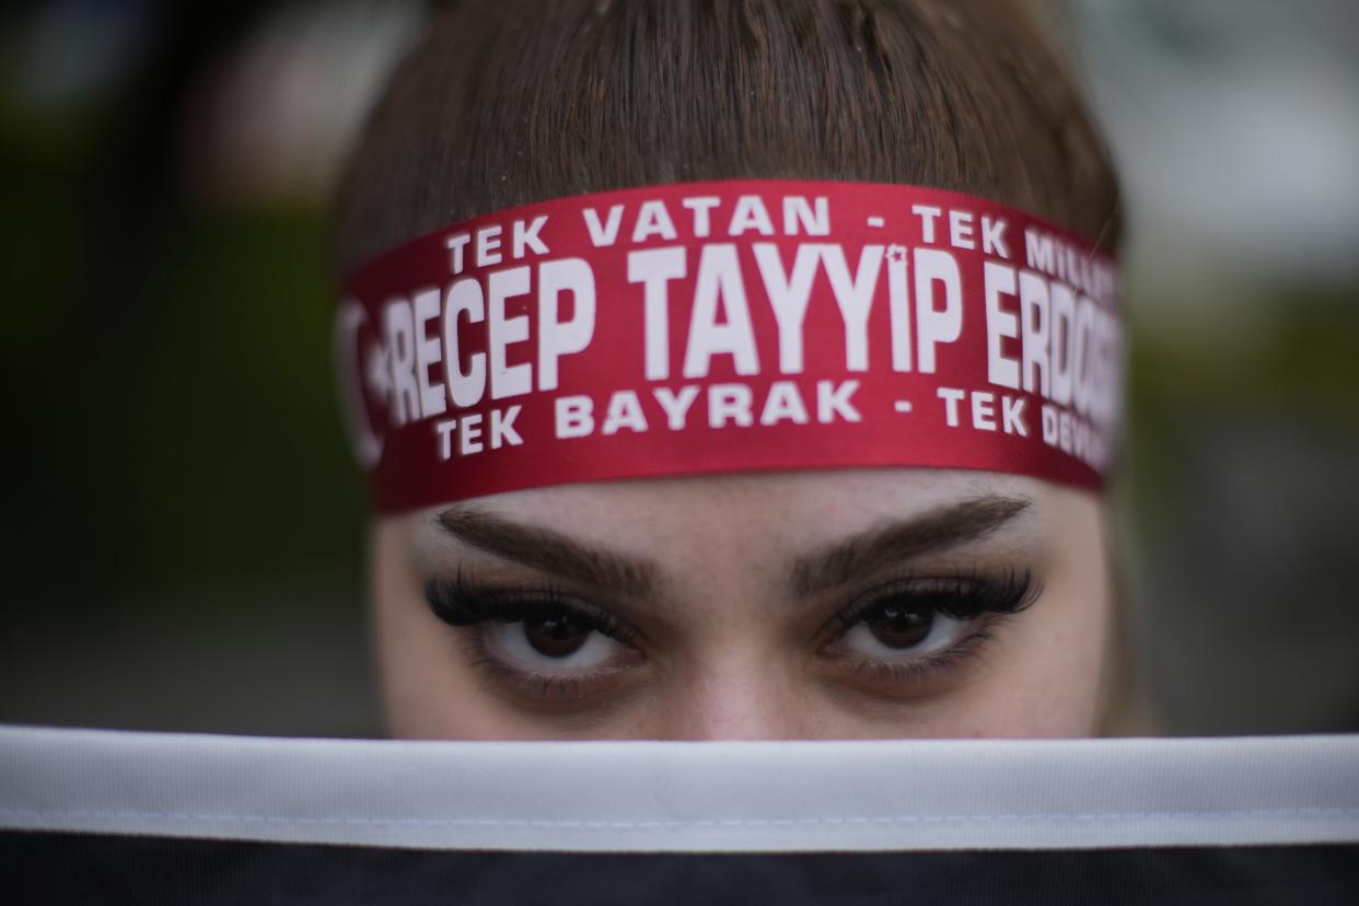
[[(1359, 4), (1031, 5), (1125, 181), (1161, 728), (1359, 729)], [(0, 721), (381, 732), (325, 208), (427, 14), (0, 14)]]

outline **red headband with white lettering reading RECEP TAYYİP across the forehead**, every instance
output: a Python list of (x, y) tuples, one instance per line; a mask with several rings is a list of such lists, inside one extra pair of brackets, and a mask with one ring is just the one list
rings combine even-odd
[(379, 511), (720, 471), (935, 466), (1098, 488), (1112, 259), (1021, 211), (852, 182), (511, 208), (355, 273), (336, 321)]

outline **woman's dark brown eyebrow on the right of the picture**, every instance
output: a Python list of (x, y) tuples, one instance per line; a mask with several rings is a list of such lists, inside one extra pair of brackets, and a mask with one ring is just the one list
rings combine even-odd
[(1018, 497), (977, 497), (923, 516), (878, 526), (794, 560), (794, 594), (810, 598), (848, 584), (866, 572), (977, 541), (1014, 520), (1029, 507), (1030, 501)]

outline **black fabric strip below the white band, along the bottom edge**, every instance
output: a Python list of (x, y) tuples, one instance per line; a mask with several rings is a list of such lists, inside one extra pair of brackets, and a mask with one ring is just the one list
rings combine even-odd
[(11, 903), (1359, 903), (1359, 844), (650, 854), (0, 833)]

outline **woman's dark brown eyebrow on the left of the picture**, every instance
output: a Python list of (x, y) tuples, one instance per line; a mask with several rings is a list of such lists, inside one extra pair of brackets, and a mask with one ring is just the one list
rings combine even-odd
[(660, 584), (660, 569), (651, 561), (590, 547), (550, 528), (469, 507), (450, 507), (435, 522), (477, 550), (628, 598), (652, 598)]

